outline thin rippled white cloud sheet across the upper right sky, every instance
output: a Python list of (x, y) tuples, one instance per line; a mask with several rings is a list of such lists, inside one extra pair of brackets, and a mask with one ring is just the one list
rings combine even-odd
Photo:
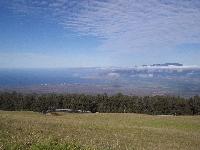
[(19, 14), (42, 15), (80, 35), (103, 40), (101, 50), (171, 48), (200, 41), (199, 0), (8, 0)]

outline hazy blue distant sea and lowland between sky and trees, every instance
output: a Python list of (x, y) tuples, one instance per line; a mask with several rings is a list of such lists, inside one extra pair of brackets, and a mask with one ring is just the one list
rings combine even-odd
[(2, 69), (1, 91), (175, 95), (200, 93), (200, 68), (154, 64), (131, 68)]

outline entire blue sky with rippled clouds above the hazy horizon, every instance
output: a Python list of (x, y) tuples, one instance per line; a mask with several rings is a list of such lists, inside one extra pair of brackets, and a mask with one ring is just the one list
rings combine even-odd
[(200, 66), (199, 0), (0, 0), (0, 68)]

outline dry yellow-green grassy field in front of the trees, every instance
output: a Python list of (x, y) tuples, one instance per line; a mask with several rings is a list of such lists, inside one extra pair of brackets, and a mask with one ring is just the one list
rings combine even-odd
[(200, 149), (200, 116), (0, 111), (0, 149)]

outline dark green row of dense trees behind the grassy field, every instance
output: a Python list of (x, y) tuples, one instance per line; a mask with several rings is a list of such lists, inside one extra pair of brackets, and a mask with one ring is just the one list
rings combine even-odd
[(73, 109), (102, 113), (145, 113), (152, 115), (199, 115), (200, 97), (128, 96), (107, 94), (22, 94), (0, 93), (1, 110), (45, 112)]

